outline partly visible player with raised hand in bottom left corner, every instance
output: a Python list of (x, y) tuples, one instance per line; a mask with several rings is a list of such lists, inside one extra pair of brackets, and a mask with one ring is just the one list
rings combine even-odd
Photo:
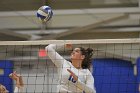
[[(22, 77), (18, 75), (16, 72), (11, 73), (9, 77), (12, 78), (14, 81), (16, 81), (14, 93), (21, 93), (23, 88)], [(6, 89), (6, 87), (0, 84), (0, 93), (8, 93), (8, 92), (9, 91)]]

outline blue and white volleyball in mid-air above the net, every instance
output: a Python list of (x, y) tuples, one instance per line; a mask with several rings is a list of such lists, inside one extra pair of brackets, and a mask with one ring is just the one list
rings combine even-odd
[(51, 7), (49, 6), (41, 6), (37, 11), (37, 17), (42, 22), (48, 22), (53, 16), (53, 12)]

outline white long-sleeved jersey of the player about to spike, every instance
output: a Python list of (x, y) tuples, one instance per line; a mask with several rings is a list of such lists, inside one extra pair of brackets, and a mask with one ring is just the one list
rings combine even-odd
[[(56, 52), (56, 49), (64, 45), (50, 44), (46, 47), (47, 55), (58, 68), (59, 85), (58, 93), (96, 93), (94, 88), (94, 78), (88, 69), (76, 69), (71, 62), (65, 60)], [(67, 71), (70, 69), (78, 76), (74, 81)]]

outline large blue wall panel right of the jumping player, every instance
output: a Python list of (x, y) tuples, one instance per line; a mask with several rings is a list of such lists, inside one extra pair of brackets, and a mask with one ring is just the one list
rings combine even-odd
[(93, 76), (97, 93), (138, 93), (137, 77), (131, 62), (120, 59), (94, 59)]

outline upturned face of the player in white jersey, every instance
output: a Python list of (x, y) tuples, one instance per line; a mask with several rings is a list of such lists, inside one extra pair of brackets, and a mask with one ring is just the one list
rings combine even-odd
[(72, 60), (83, 60), (83, 55), (80, 48), (75, 48), (71, 53)]

